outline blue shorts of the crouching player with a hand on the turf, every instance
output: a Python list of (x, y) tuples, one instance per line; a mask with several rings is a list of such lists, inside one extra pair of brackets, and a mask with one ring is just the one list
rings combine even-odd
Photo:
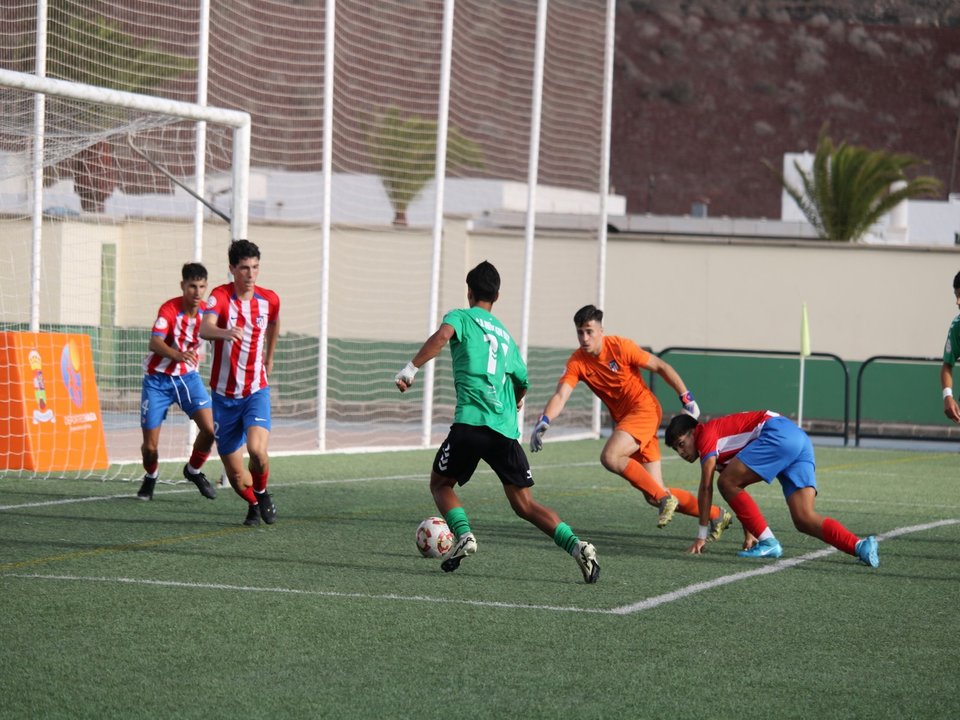
[(817, 489), (813, 444), (788, 418), (767, 420), (760, 436), (737, 453), (737, 459), (768, 483), (777, 478), (785, 498), (802, 487)]

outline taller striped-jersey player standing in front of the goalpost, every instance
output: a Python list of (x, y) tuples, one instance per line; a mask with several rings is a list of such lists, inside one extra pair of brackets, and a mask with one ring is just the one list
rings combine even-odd
[[(277, 508), (267, 492), (270, 384), (280, 336), (280, 298), (257, 285), (260, 249), (236, 240), (227, 253), (233, 282), (213, 289), (200, 337), (213, 341), (210, 389), (217, 450), (234, 491), (247, 501), (244, 525), (268, 525)], [(244, 446), (250, 455), (243, 463)]]

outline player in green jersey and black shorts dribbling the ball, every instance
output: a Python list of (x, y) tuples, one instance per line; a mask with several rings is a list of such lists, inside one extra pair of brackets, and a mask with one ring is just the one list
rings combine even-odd
[(583, 579), (600, 577), (597, 551), (578, 538), (550, 508), (533, 499), (533, 474), (517, 442), (517, 411), (527, 392), (527, 366), (503, 324), (491, 313), (500, 297), (500, 273), (484, 260), (467, 273), (466, 310), (451, 310), (440, 328), (423, 343), (413, 360), (397, 373), (400, 392), (411, 385), (417, 371), (450, 344), (457, 407), (453, 425), (440, 445), (430, 473), (430, 492), (437, 509), (456, 536), (456, 543), (440, 563), (444, 572), (477, 551), (467, 513), (455, 487), (463, 485), (483, 460), (500, 478), (513, 511), (545, 532), (577, 561)]

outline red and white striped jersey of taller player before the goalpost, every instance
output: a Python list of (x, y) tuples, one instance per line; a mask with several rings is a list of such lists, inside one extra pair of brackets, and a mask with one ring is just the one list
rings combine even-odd
[(239, 342), (215, 340), (210, 389), (226, 397), (247, 397), (269, 384), (263, 354), (267, 325), (280, 317), (280, 298), (273, 291), (254, 286), (250, 300), (240, 300), (232, 283), (215, 287), (207, 298), (207, 313), (217, 318), (217, 327), (239, 327)]

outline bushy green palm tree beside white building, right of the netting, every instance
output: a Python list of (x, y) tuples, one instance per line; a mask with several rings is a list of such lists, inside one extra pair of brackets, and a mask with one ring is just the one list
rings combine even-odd
[[(856, 242), (904, 200), (936, 196), (940, 181), (930, 176), (908, 179), (906, 171), (925, 162), (913, 155), (870, 150), (845, 142), (835, 146), (820, 130), (812, 172), (799, 163), (802, 189), (769, 167), (803, 214), (825, 240)], [(896, 183), (896, 186), (894, 186)]]

